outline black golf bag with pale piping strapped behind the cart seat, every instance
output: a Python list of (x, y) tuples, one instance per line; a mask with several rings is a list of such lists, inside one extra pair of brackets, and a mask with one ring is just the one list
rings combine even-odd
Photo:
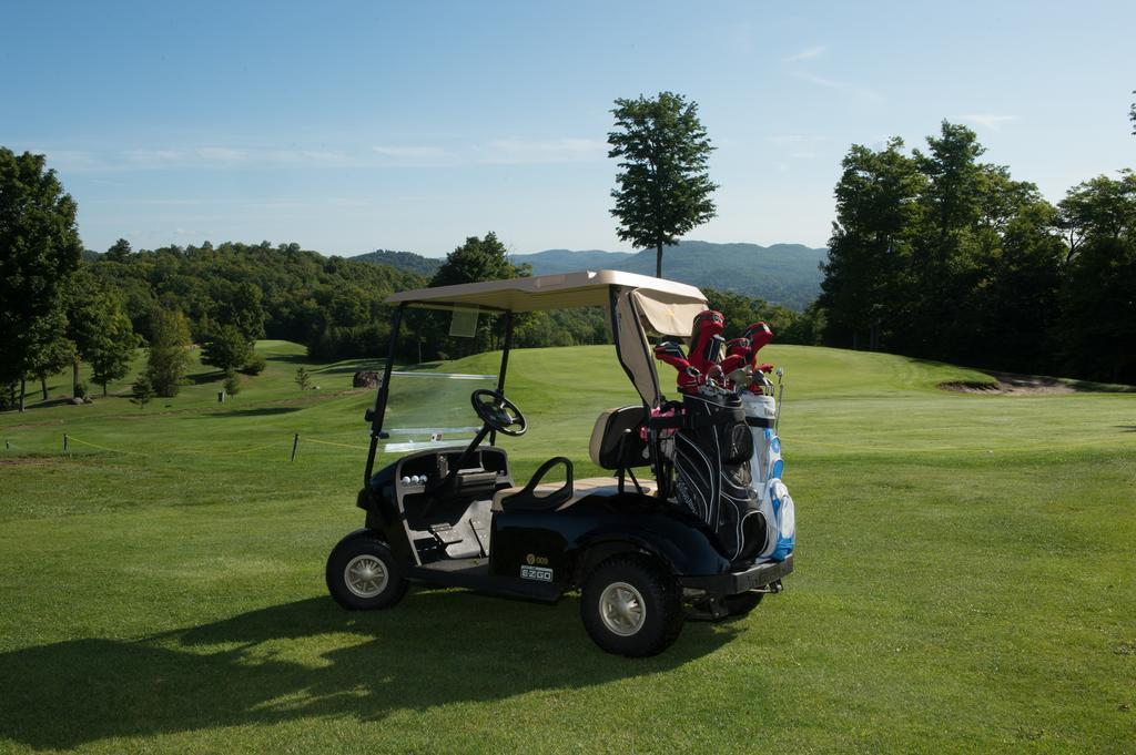
[(766, 519), (750, 485), (753, 438), (741, 399), (686, 395), (683, 410), (675, 497), (713, 530), (730, 561), (754, 556), (766, 545)]

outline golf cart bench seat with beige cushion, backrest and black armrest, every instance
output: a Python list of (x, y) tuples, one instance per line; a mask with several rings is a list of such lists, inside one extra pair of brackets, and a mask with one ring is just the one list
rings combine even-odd
[[(574, 480), (571, 462), (557, 456), (544, 462), (525, 487), (507, 487), (493, 495), (493, 511), (562, 511), (580, 498), (595, 494), (623, 493), (624, 472), (633, 467), (651, 463), (646, 443), (640, 438), (638, 428), (646, 412), (642, 404), (609, 409), (600, 414), (592, 430), (588, 454), (592, 463), (603, 469), (617, 470), (618, 477), (588, 477)], [(565, 483), (541, 483), (541, 478), (558, 464), (567, 469)], [(634, 477), (633, 477), (634, 479)], [(654, 495), (653, 480), (637, 481), (643, 495)]]

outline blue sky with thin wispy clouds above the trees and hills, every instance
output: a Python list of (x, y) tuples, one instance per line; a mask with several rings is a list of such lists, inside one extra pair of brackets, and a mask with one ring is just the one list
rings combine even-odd
[(48, 154), (87, 248), (626, 250), (611, 102), (699, 102), (718, 218), (824, 245), (852, 143), (943, 118), (1056, 201), (1136, 165), (1136, 3), (7, 3), (0, 145)]

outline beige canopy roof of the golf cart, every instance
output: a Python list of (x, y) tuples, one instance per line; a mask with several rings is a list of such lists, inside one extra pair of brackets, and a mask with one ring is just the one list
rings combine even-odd
[(694, 316), (707, 307), (694, 286), (620, 270), (580, 270), (531, 278), (486, 280), (454, 286), (403, 291), (389, 304), (429, 309), (478, 308), (488, 311), (538, 312), (551, 309), (612, 304), (612, 290), (634, 292), (643, 325), (660, 335), (690, 336)]

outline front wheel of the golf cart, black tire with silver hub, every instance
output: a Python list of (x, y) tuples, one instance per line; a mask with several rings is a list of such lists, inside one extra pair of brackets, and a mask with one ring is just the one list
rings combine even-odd
[(350, 611), (389, 609), (407, 594), (407, 580), (391, 550), (376, 537), (349, 536), (327, 556), (327, 592)]

